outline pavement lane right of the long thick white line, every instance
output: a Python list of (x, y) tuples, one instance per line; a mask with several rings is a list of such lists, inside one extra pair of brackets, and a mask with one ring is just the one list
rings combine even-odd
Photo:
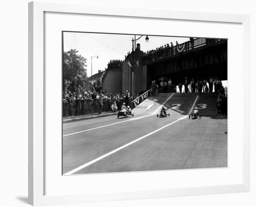
[(181, 120), (75, 174), (227, 167), (226, 130), (226, 119)]

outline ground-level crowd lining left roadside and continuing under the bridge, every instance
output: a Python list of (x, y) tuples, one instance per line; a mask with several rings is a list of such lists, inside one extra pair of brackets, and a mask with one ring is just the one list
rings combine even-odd
[[(92, 83), (93, 84), (93, 83)], [(222, 114), (227, 113), (227, 92), (222, 86), (222, 81), (217, 78), (200, 79), (195, 81), (193, 78), (179, 81), (179, 84), (173, 84), (171, 79), (161, 80), (159, 85), (152, 81), (151, 88), (148, 92), (142, 91), (134, 98), (128, 91), (120, 93), (105, 93), (97, 85), (93, 85), (97, 90), (78, 91), (63, 93), (63, 117), (77, 116), (85, 114), (101, 114), (102, 112), (117, 112), (121, 110), (123, 104), (128, 107), (137, 107), (143, 100), (149, 96), (155, 96), (157, 93), (218, 93), (218, 110)]]

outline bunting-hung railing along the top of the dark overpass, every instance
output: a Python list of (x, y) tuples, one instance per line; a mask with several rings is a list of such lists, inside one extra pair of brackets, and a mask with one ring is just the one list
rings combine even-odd
[(147, 53), (143, 58), (143, 64), (148, 64), (149, 62), (152, 62), (155, 60), (160, 60), (168, 56), (180, 54), (185, 51), (192, 50), (196, 47), (201, 47), (203, 45), (210, 44), (219, 40), (220, 39), (196, 38), (194, 40), (183, 42), (178, 46), (163, 47), (163, 48), (154, 50), (153, 52), (149, 51), (149, 53)]

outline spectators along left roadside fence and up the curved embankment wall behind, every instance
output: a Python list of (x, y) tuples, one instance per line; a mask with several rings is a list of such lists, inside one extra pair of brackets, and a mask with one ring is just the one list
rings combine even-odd
[[(110, 60), (108, 69), (122, 67), (123, 62), (123, 60)], [(132, 105), (133, 97), (128, 91), (124, 91), (122, 94), (105, 93), (102, 82), (106, 72), (107, 69), (105, 68), (100, 78), (89, 81), (90, 89), (88, 91), (63, 93), (63, 117), (116, 112), (121, 109), (123, 103), (126, 106)]]

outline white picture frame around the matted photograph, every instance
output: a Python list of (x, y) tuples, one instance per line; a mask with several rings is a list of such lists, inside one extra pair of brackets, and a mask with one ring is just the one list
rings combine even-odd
[[(168, 10), (152, 10), (122, 7), (98, 7), (66, 3), (30, 2), (29, 5), (29, 137), (28, 137), (28, 202), (31, 205), (53, 205), (91, 201), (128, 200), (158, 198), (170, 196), (221, 194), (249, 191), (249, 90), (243, 91), (244, 113), (241, 115), (243, 131), (243, 179), (232, 185), (212, 185), (202, 187), (166, 188), (129, 192), (105, 192), (99, 194), (61, 194), (47, 195), (45, 191), (45, 13), (71, 13), (111, 15), (112, 17), (154, 18), (157, 20), (180, 20), (219, 22), (242, 25), (243, 30), (243, 80), (244, 88), (249, 88), (249, 15), (177, 12)], [(231, 60), (232, 61), (232, 60)], [(231, 72), (232, 73), (232, 72)], [(234, 73), (234, 72), (233, 72)], [(230, 129), (232, 130), (232, 129)], [(60, 132), (61, 136), (61, 132)], [(115, 174), (114, 174), (115, 176)], [(150, 175), (149, 175), (150, 176)]]

